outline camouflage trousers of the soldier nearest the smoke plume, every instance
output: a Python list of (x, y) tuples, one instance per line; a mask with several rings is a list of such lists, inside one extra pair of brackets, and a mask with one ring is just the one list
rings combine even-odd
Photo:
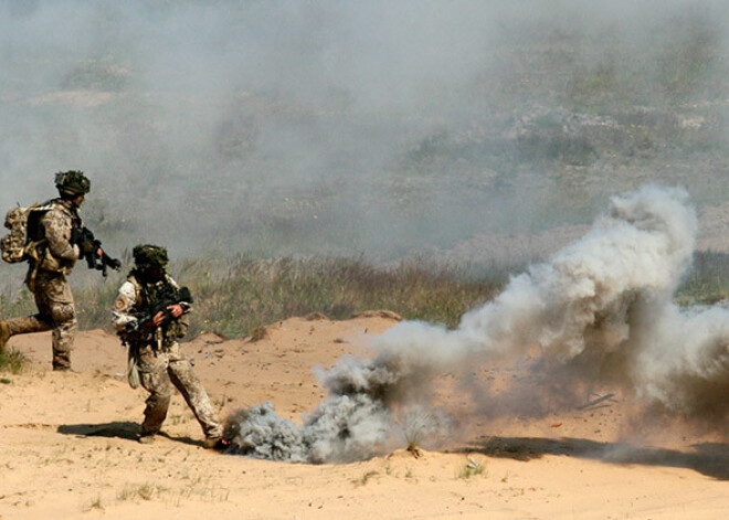
[(170, 405), (172, 385), (180, 391), (192, 410), (207, 437), (223, 435), (223, 426), (218, 420), (208, 392), (192, 371), (192, 365), (180, 353), (178, 343), (162, 350), (152, 346), (138, 347), (139, 382), (147, 392), (142, 435), (156, 434), (162, 427)]

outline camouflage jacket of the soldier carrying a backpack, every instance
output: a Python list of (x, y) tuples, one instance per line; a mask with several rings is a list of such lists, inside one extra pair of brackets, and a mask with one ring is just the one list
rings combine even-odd
[[(52, 209), (40, 220), (46, 244), (38, 267), (40, 270), (68, 275), (81, 256), (78, 246), (71, 243), (71, 234), (73, 229), (82, 226), (83, 222), (68, 201), (53, 199), (43, 205), (50, 205)], [(30, 268), (35, 268), (33, 262)]]

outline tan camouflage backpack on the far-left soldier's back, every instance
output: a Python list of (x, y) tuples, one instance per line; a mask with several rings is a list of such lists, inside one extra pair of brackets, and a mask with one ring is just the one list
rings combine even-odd
[(28, 208), (13, 208), (6, 215), (6, 227), (10, 233), (0, 238), (2, 259), (17, 264), (30, 258), (39, 261), (40, 248), (45, 244), (40, 221), (53, 206), (33, 204)]

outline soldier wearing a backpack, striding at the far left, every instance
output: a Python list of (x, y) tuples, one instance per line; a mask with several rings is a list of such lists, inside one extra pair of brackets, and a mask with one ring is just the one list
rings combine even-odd
[[(66, 276), (84, 254), (87, 244), (73, 244), (74, 229), (83, 225), (78, 208), (91, 188), (83, 172), (59, 172), (55, 187), (60, 197), (45, 202), (51, 209), (43, 214), (35, 233), (44, 241), (38, 248), (38, 258), (31, 258), (25, 284), (35, 297), (38, 314), (0, 320), (0, 350), (15, 335), (53, 330), (53, 370), (71, 370), (71, 351), (76, 335), (76, 309)], [(30, 232), (30, 230), (29, 230)], [(91, 245), (91, 244), (88, 244)]]

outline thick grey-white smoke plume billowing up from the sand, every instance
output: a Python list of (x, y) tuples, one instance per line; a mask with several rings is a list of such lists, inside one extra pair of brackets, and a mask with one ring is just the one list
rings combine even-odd
[[(229, 425), (234, 450), (317, 463), (371, 456), (402, 442), (409, 413), (443, 416), (431, 399), (445, 372), (467, 383), (457, 391), (486, 420), (569, 410), (585, 395), (578, 390), (610, 385), (645, 410), (659, 406), (723, 429), (729, 312), (672, 301), (695, 235), (683, 189), (648, 185), (614, 197), (587, 235), (514, 277), (455, 330), (401, 322), (379, 337), (377, 357), (341, 359), (321, 374), (329, 396), (302, 427), (270, 403), (240, 412)], [(530, 360), (522, 370), (538, 381), (499, 393), (468, 381), (505, 359)]]

